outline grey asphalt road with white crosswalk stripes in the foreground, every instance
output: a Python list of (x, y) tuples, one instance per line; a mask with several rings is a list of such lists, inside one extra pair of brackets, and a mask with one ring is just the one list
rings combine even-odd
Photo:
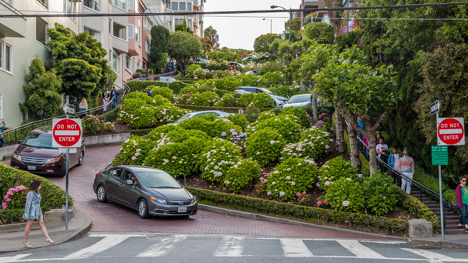
[(72, 242), (1, 254), (0, 263), (468, 262), (467, 249), (414, 249), (420, 244), (405, 241), (90, 233)]

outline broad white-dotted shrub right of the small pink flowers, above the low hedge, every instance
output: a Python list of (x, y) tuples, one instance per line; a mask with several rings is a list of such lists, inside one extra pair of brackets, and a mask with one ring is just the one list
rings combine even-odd
[(298, 193), (304, 193), (312, 185), (317, 176), (317, 166), (312, 160), (289, 158), (273, 168), (266, 177), (265, 188), (271, 198), (296, 199)]

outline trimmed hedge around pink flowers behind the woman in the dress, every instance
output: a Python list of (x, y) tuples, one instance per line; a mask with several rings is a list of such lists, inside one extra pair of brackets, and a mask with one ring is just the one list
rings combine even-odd
[[(43, 212), (47, 212), (56, 206), (60, 207), (65, 204), (65, 190), (59, 186), (44, 177), (27, 171), (17, 170), (5, 163), (0, 163), (0, 185), (3, 185), (3, 189), (8, 190), (9, 188), (14, 188), (18, 185), (28, 187), (33, 180), (42, 181), (42, 187), (39, 193), (42, 196), (41, 208)], [(68, 199), (70, 201), (72, 200), (70, 196), (68, 196)], [(21, 216), (24, 213), (24, 210), (22, 211)], [(0, 213), (0, 221), (8, 220), (8, 218), (16, 218), (15, 216), (7, 212)]]

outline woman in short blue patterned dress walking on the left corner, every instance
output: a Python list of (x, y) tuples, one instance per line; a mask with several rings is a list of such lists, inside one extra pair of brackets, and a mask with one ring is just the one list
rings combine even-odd
[(29, 189), (27, 191), (26, 206), (24, 207), (24, 214), (22, 216), (23, 219), (28, 220), (26, 228), (24, 229), (23, 245), (25, 248), (32, 248), (32, 246), (29, 245), (28, 238), (29, 230), (32, 227), (32, 223), (34, 223), (34, 220), (37, 220), (37, 222), (39, 223), (42, 233), (45, 236), (45, 242), (47, 242), (48, 245), (55, 243), (55, 241), (52, 241), (49, 235), (47, 234), (47, 230), (45, 229), (44, 225), (44, 216), (42, 215), (41, 210), (41, 195), (39, 194), (41, 185), (41, 181), (33, 180), (32, 183), (29, 185)]

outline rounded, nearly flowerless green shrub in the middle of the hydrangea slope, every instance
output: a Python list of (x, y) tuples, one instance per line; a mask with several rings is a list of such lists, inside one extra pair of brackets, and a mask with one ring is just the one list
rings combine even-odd
[(251, 133), (245, 142), (247, 157), (252, 157), (260, 166), (265, 166), (278, 160), (283, 148), (284, 139), (271, 127), (266, 127)]

